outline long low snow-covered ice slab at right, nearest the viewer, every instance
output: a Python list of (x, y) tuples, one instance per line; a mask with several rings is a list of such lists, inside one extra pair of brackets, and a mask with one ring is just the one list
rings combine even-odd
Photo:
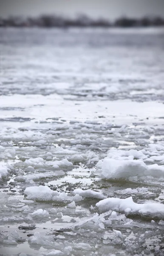
[(151, 217), (164, 218), (164, 204), (147, 203), (136, 204), (133, 198), (106, 198), (96, 204), (101, 211), (108, 211), (110, 209), (119, 212), (147, 215)]

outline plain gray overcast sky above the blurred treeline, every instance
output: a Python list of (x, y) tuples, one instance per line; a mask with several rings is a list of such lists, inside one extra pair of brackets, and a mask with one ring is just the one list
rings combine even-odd
[(164, 0), (0, 0), (0, 17), (10, 15), (37, 16), (40, 14), (114, 19), (122, 15), (164, 17)]

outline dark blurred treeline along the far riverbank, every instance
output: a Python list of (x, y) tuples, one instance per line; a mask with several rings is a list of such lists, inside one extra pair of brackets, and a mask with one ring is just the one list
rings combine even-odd
[(86, 15), (76, 18), (61, 17), (56, 15), (41, 15), (40, 17), (8, 17), (0, 18), (0, 26), (3, 27), (147, 27), (164, 26), (164, 18), (142, 17), (140, 19), (120, 17), (114, 22), (107, 19), (92, 19)]

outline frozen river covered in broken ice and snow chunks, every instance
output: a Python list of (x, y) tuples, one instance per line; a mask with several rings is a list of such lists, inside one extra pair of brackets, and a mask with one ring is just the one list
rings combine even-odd
[(0, 256), (164, 255), (164, 29), (0, 29)]

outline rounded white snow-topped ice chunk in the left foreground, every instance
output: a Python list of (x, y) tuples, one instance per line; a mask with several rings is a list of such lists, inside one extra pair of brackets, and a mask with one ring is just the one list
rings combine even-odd
[(26, 188), (24, 193), (27, 195), (27, 199), (37, 199), (39, 201), (51, 201), (54, 195), (59, 194), (48, 186), (31, 186)]

